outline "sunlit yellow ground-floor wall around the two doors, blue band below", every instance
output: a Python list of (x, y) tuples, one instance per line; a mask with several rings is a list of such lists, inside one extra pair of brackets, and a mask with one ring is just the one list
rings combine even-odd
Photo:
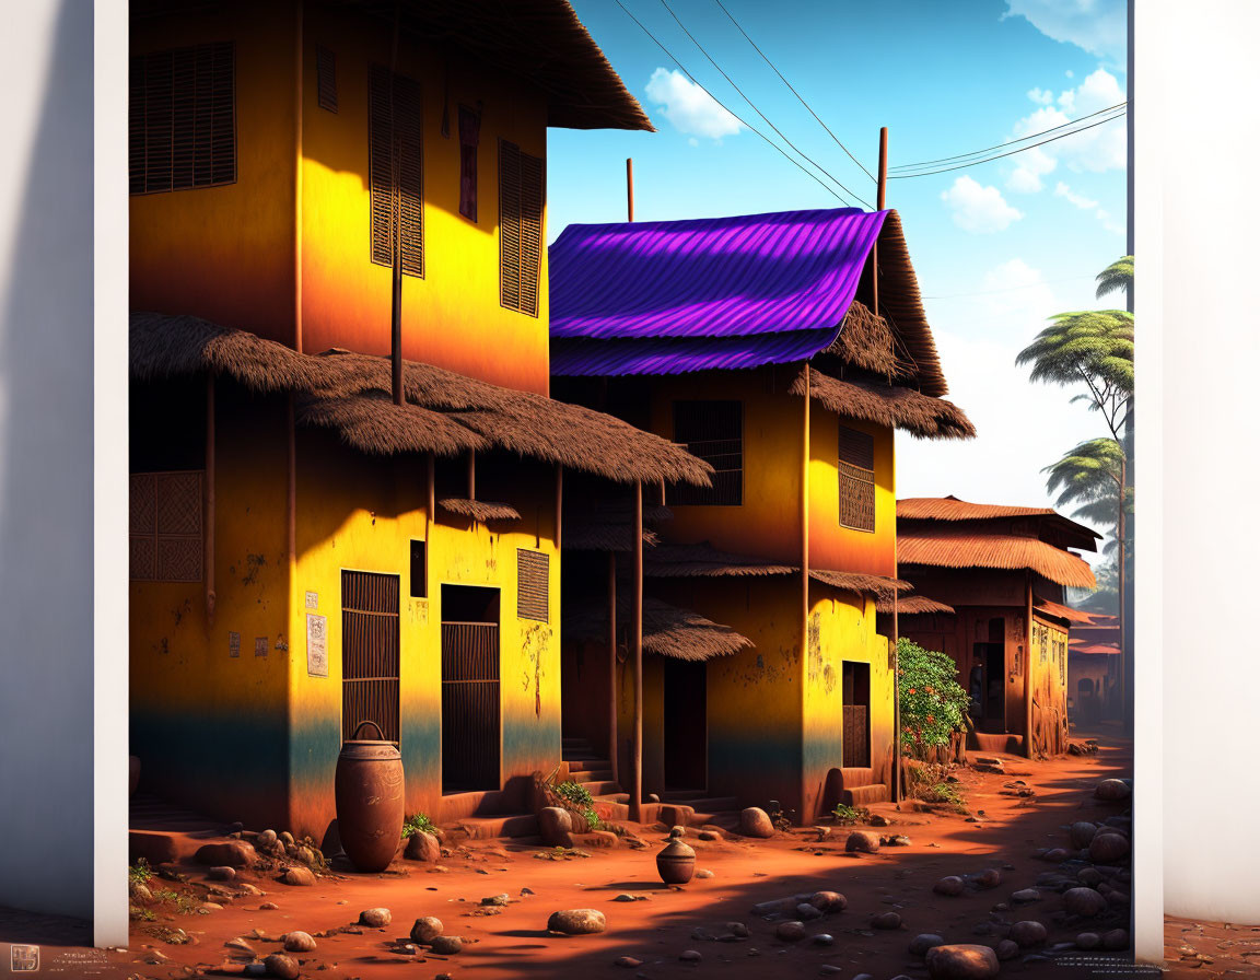
[[(440, 464), (441, 465), (441, 464)], [(316, 840), (335, 816), (333, 781), (341, 747), (341, 571), (399, 577), (399, 741), (407, 812), (454, 820), (474, 811), (519, 811), (536, 770), (561, 761), (559, 556), (554, 471), (518, 464), (508, 503), (519, 523), (486, 527), (437, 513), (426, 519), (421, 457), (377, 460), (299, 431), (297, 562), (290, 630), (292, 826)], [(441, 494), (438, 494), (438, 498)], [(499, 496), (501, 499), (501, 495)], [(425, 540), (426, 596), (412, 597), (411, 540)], [(517, 616), (517, 549), (548, 556), (548, 622)], [(500, 782), (496, 792), (442, 794), (442, 584), (499, 591)], [(315, 607), (307, 607), (314, 593)], [(326, 617), (328, 676), (309, 671), (306, 616)], [(372, 737), (368, 734), (368, 737)]]

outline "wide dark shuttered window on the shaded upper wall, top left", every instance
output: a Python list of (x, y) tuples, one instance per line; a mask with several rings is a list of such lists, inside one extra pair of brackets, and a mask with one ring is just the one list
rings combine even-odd
[(132, 194), (236, 183), (232, 42), (136, 55), (127, 88)]

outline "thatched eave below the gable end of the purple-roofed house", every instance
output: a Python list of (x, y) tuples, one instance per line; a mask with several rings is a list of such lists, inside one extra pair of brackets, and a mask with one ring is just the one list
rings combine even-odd
[[(801, 370), (789, 392), (805, 394), (805, 372)], [(953, 402), (935, 398), (910, 388), (874, 384), (871, 382), (842, 382), (809, 372), (809, 394), (830, 412), (864, 422), (874, 422), (890, 428), (902, 428), (920, 438), (971, 438), (975, 427), (966, 413)]]

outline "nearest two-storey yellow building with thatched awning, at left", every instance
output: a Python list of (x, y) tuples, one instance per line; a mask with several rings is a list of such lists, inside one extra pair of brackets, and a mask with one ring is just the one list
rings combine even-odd
[(650, 125), (563, 0), (512, 8), (132, 5), (131, 742), (173, 801), (320, 840), (370, 721), (408, 812), (525, 810), (563, 474), (708, 482), (547, 397), (547, 127)]

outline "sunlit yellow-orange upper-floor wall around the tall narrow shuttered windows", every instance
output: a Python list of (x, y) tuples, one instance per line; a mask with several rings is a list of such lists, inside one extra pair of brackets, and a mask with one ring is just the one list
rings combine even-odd
[[(336, 112), (319, 106), (318, 47), (335, 57)], [(391, 53), (391, 24), (307, 6), (300, 251), (302, 348), (310, 353), (331, 346), (389, 353), (392, 271), (370, 259), (368, 100), (372, 64), (388, 67)], [(499, 301), (499, 140), (546, 159), (544, 97), (454, 49), (415, 40), (399, 45), (398, 73), (420, 83), (423, 101), (425, 275), (403, 275), (403, 356), (546, 394), (546, 248), (538, 316)], [(476, 222), (459, 210), (460, 106), (481, 111)], [(546, 213), (543, 229), (546, 242)]]

